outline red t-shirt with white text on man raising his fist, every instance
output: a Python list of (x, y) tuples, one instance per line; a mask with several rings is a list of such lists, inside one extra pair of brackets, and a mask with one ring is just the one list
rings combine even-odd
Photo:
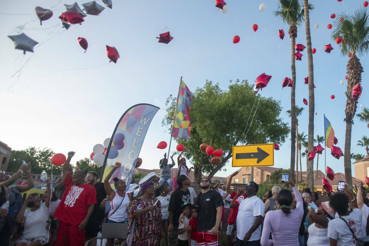
[(86, 218), (87, 206), (96, 204), (96, 189), (87, 183), (82, 186), (73, 185), (70, 173), (63, 184), (66, 189), (54, 217), (68, 224), (79, 225)]

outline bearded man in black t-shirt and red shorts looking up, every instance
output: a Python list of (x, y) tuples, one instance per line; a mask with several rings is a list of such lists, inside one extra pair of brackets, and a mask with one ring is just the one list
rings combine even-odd
[(210, 180), (201, 179), (201, 193), (197, 196), (197, 245), (218, 246), (219, 224), (222, 218), (223, 199), (221, 195), (210, 190)]

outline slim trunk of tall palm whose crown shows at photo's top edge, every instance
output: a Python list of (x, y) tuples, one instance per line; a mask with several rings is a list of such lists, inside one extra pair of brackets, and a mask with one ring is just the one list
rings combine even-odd
[[(294, 24), (293, 24), (294, 25)], [(292, 25), (291, 25), (292, 26)], [(291, 29), (291, 27), (290, 27)], [(291, 36), (291, 35), (290, 35)], [(291, 87), (291, 163), (290, 163), (290, 180), (294, 180), (295, 175), (295, 151), (296, 151), (296, 103), (295, 103), (295, 91), (296, 91), (296, 66), (295, 66), (295, 44), (296, 37), (291, 37), (291, 72), (294, 86)], [(298, 141), (297, 141), (298, 142)], [(297, 158), (297, 157), (296, 157)], [(296, 185), (298, 184), (298, 164), (296, 163)]]

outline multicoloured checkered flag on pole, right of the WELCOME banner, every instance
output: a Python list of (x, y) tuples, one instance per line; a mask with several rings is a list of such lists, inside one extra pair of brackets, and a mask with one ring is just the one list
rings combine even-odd
[(190, 109), (192, 106), (192, 93), (183, 82), (179, 83), (177, 105), (174, 114), (172, 137), (189, 138), (191, 134)]

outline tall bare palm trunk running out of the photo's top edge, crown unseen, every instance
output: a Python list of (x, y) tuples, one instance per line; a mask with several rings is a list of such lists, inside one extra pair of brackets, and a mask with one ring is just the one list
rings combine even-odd
[[(304, 0), (304, 15), (305, 15), (305, 33), (306, 33), (306, 46), (307, 46), (307, 63), (309, 71), (309, 125), (308, 125), (308, 152), (314, 150), (314, 66), (313, 66), (313, 51), (311, 48), (310, 37), (310, 18), (309, 18), (309, 3), (308, 0)], [(314, 161), (308, 161), (307, 169), (307, 187), (314, 190)]]

